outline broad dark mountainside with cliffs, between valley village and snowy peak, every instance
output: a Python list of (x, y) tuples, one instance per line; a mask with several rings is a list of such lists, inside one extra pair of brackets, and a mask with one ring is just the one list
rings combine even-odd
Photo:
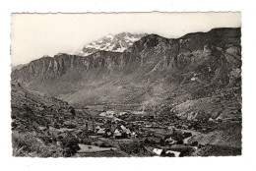
[(12, 82), (74, 106), (166, 107), (183, 118), (241, 118), (240, 28), (168, 39), (149, 34), (124, 52), (58, 54), (12, 72)]

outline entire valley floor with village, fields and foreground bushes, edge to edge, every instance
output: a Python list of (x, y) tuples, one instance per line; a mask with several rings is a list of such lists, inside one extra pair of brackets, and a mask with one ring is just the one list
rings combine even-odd
[(61, 126), (49, 123), (47, 127), (30, 131), (16, 127), (13, 154), (36, 157), (241, 155), (240, 122), (195, 124), (170, 116), (164, 118), (105, 111), (97, 116), (77, 114), (68, 119), (70, 123)]

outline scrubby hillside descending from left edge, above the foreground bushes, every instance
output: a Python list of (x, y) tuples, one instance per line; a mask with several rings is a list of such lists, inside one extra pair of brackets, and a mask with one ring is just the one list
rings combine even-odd
[(19, 83), (11, 86), (13, 130), (32, 132), (52, 125), (54, 121), (60, 123), (61, 117), (72, 118), (73, 107), (67, 102), (32, 91)]

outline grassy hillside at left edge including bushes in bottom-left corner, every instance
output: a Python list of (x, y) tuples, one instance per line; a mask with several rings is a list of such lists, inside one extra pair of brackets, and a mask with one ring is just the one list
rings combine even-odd
[[(12, 142), (14, 156), (60, 157), (63, 148), (42, 132), (54, 115), (69, 116), (67, 103), (12, 84)], [(45, 107), (44, 107), (45, 106)]]

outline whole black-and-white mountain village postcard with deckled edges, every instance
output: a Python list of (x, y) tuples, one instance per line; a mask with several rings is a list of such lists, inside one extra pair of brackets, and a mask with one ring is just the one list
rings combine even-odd
[(242, 155), (240, 12), (11, 16), (14, 157)]

